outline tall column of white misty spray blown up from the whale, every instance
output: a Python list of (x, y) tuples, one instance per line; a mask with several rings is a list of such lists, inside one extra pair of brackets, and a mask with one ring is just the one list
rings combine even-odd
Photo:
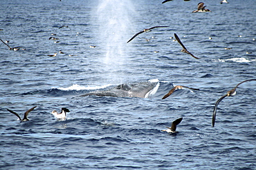
[[(131, 31), (131, 14), (134, 7), (130, 0), (102, 0), (96, 11), (97, 36), (102, 45), (102, 61), (109, 81), (122, 81), (123, 63), (128, 50), (127, 30)], [(129, 32), (128, 31), (128, 32)]]

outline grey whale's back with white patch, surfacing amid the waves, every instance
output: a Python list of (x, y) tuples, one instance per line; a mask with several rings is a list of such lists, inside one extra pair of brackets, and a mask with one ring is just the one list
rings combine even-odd
[(106, 91), (95, 91), (81, 96), (111, 96), (130, 98), (149, 98), (156, 94), (160, 83), (158, 79), (152, 79), (140, 83), (123, 83)]

